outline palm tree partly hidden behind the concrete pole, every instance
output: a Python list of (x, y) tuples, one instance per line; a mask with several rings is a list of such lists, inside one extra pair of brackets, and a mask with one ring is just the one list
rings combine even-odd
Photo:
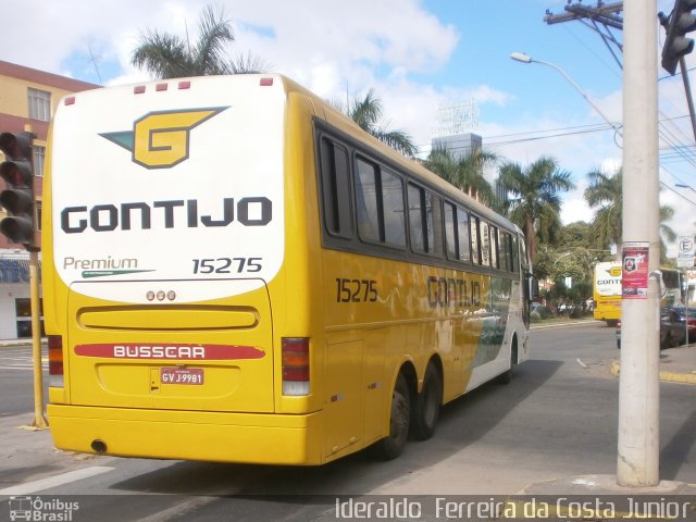
[[(585, 201), (591, 208), (598, 207), (593, 220), (593, 228), (602, 248), (610, 245), (620, 246), (622, 241), (622, 211), (623, 211), (623, 172), (621, 169), (613, 175), (607, 175), (599, 170), (587, 174), (589, 185), (585, 189)], [(674, 241), (676, 234), (664, 224), (674, 215), (670, 207), (660, 207), (660, 257), (664, 258), (667, 247), (664, 240)], [(617, 249), (618, 250), (618, 249)], [(617, 253), (620, 256), (620, 253)]]

